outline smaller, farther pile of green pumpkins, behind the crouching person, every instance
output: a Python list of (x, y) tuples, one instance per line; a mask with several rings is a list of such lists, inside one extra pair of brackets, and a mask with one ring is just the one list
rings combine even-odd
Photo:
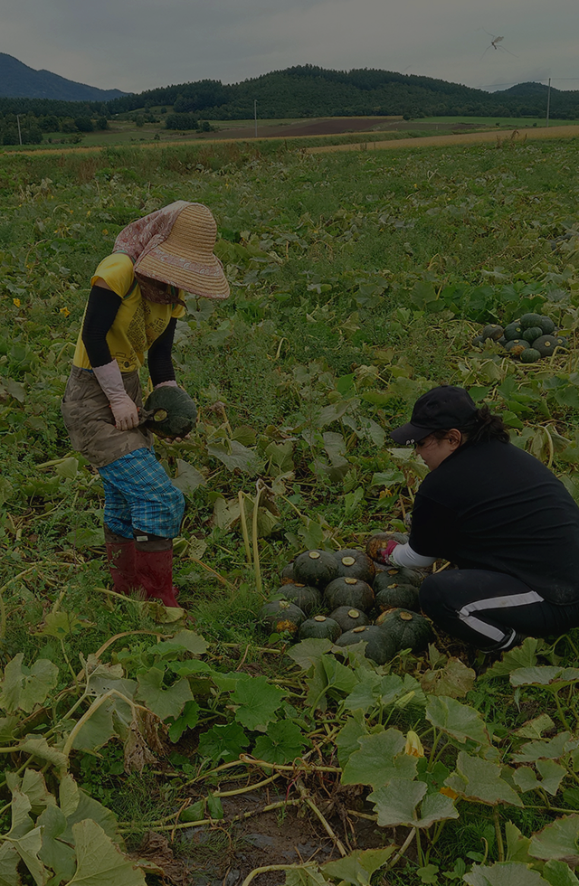
[(567, 339), (558, 334), (551, 317), (540, 314), (524, 314), (506, 326), (489, 323), (472, 344), (480, 347), (488, 340), (502, 344), (521, 363), (536, 363), (542, 357), (550, 357), (557, 348), (568, 347)]

